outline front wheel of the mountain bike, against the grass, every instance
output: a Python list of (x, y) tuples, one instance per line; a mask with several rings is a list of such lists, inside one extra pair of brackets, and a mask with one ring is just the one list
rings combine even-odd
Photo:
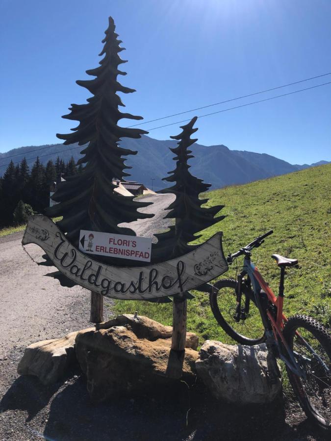
[[(252, 301), (250, 302), (250, 310), (253, 307), (253, 314), (251, 313), (247, 319), (239, 322), (233, 318), (236, 308), (236, 283), (233, 279), (222, 279), (213, 284), (218, 291), (213, 290), (209, 294), (211, 311), (218, 324), (236, 342), (249, 346), (263, 343), (265, 341), (264, 326), (258, 308)], [(245, 291), (243, 298), (246, 299)], [(243, 333), (243, 331), (245, 332)]]

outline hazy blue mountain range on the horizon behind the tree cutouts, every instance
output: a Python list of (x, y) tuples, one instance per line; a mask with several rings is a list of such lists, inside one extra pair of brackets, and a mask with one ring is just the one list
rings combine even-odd
[[(154, 190), (165, 188), (166, 183), (162, 181), (162, 178), (175, 168), (175, 162), (172, 160), (174, 155), (169, 147), (174, 147), (176, 144), (176, 141), (159, 141), (146, 135), (141, 139), (126, 139), (122, 143), (123, 147), (138, 152), (127, 158), (127, 165), (132, 167), (128, 171), (131, 173), (131, 178), (128, 179), (143, 182), (148, 187), (152, 186), (153, 179)], [(57, 156), (60, 156), (65, 162), (68, 162), (71, 156), (77, 161), (81, 156), (79, 152), (83, 148), (77, 145), (50, 144), (20, 147), (7, 153), (0, 153), (0, 176), (5, 172), (6, 165), (11, 159), (16, 163), (25, 156), (30, 168), (37, 155), (43, 164), (46, 164), (50, 159), (55, 162)], [(195, 156), (190, 160), (192, 174), (211, 183), (213, 188), (244, 184), (328, 164), (327, 161), (319, 161), (310, 165), (292, 165), (266, 153), (230, 150), (222, 144), (208, 147), (194, 144), (191, 148)]]

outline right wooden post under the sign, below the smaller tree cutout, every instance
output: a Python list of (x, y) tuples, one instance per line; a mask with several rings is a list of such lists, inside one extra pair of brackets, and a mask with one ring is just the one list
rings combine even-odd
[(187, 300), (175, 295), (173, 302), (173, 335), (171, 349), (183, 351), (186, 342), (186, 307)]

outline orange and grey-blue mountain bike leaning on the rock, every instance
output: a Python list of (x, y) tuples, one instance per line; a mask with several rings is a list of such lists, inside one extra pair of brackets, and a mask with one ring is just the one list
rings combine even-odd
[[(298, 264), (273, 254), (280, 267), (278, 297), (251, 261), (251, 252), (272, 234), (229, 254), (229, 265), (244, 256), (236, 280), (219, 280), (209, 294), (211, 310), (225, 332), (235, 341), (254, 345), (265, 342), (269, 351), (285, 364), (290, 384), (306, 416), (331, 431), (331, 335), (317, 320), (306, 315), (289, 319), (283, 314), (285, 268)], [(277, 365), (275, 363), (275, 365)]]

